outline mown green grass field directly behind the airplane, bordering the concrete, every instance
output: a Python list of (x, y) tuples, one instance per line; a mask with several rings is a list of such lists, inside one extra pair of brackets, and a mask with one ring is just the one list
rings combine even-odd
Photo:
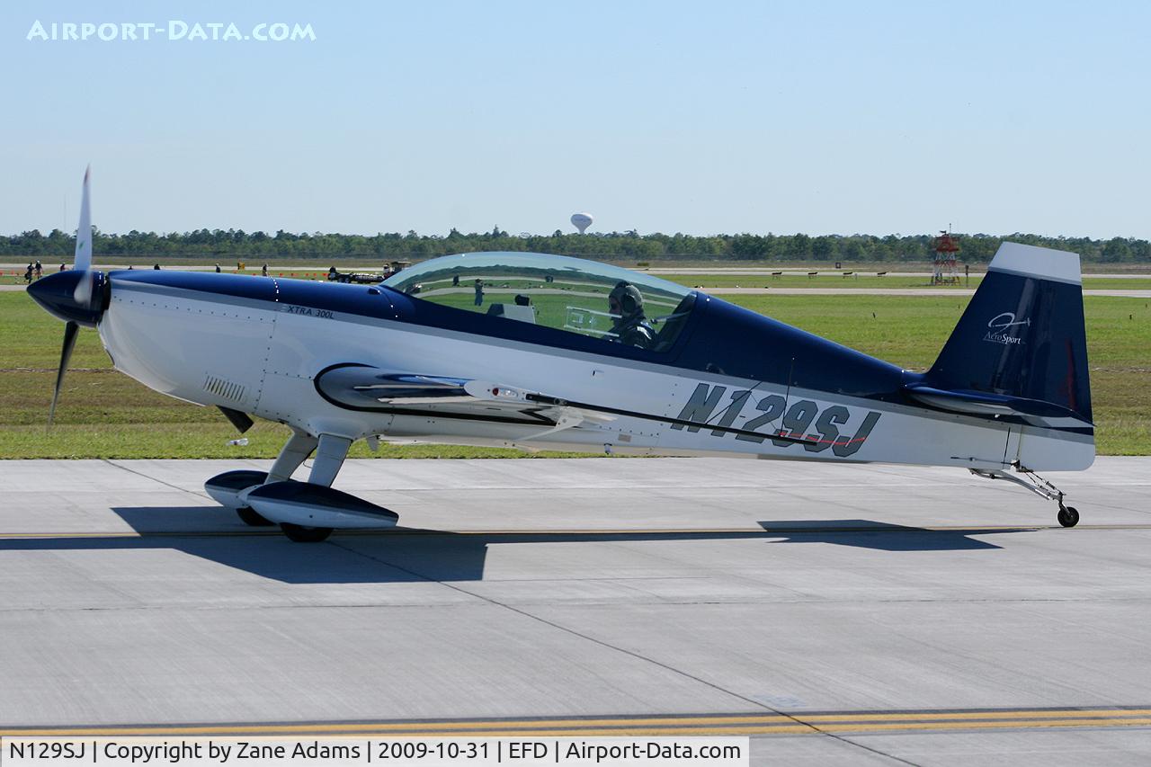
[[(701, 278), (692, 284), (704, 284)], [(840, 280), (840, 278), (836, 278)], [(1127, 282), (1127, 281), (1123, 281)], [(963, 296), (733, 296), (735, 303), (913, 370), (927, 369)], [(1088, 347), (1102, 454), (1151, 454), (1151, 309), (1142, 298), (1087, 297)], [(0, 293), (0, 458), (272, 457), (287, 430), (259, 423), (244, 447), (214, 409), (159, 395), (113, 371), (82, 331), (56, 425), (46, 431), (63, 324), (22, 291)], [(353, 455), (371, 455), (363, 443)], [(384, 446), (387, 457), (517, 456), (516, 450)]]

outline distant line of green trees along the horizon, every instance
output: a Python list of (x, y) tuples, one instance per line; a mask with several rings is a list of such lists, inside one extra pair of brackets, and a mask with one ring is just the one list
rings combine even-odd
[[(1151, 263), (1151, 243), (1133, 237), (1042, 237), (1029, 234), (996, 236), (955, 234), (961, 263), (991, 259), (1004, 240), (1077, 252), (1084, 261), (1105, 264)], [(244, 231), (242, 229), (196, 229), (157, 234), (129, 231), (107, 234), (93, 227), (93, 250), (100, 258), (208, 258), (252, 260), (269, 258), (421, 260), (448, 253), (473, 251), (533, 251), (576, 256), (605, 261), (657, 261), (665, 259), (731, 259), (746, 261), (925, 261), (933, 256), (932, 235), (710, 235), (648, 234), (637, 231), (512, 235), (498, 227), (489, 233), (447, 236), (381, 233), (375, 235), (294, 234), (290, 231)], [(53, 229), (0, 236), (0, 257), (17, 260), (68, 260), (75, 251), (74, 235)]]

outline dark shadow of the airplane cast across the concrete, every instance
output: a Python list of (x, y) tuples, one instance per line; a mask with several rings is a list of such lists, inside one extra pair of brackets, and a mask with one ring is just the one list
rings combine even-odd
[[(971, 536), (1031, 529), (907, 527), (868, 519), (764, 521), (762, 531), (549, 531), (460, 533), (397, 527), (382, 533), (341, 534), (325, 544), (294, 544), (275, 527), (247, 527), (224, 509), (204, 507), (113, 508), (139, 537), (0, 539), (12, 550), (183, 552), (289, 584), (426, 583), (482, 580), (488, 547), (500, 544), (672, 542), (754, 540), (834, 544), (885, 552), (997, 549)], [(784, 537), (780, 540), (780, 537)]]

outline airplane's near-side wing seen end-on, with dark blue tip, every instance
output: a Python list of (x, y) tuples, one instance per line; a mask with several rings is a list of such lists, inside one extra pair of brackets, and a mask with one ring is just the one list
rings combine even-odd
[(777, 442), (813, 443), (796, 436), (700, 424), (666, 415), (616, 408), (608, 403), (573, 402), (493, 381), (386, 371), (359, 363), (325, 369), (315, 377), (315, 388), (328, 402), (349, 410), (540, 427), (540, 432), (520, 438), (524, 441), (584, 423), (602, 424), (627, 417), (696, 428), (706, 425), (711, 431), (770, 438)]

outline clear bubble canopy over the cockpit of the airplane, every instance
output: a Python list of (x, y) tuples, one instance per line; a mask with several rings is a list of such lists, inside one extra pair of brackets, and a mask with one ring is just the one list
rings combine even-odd
[[(609, 296), (619, 283), (640, 294), (626, 317)], [(618, 266), (544, 253), (463, 253), (434, 258), (383, 281), (392, 290), (460, 311), (503, 317), (660, 351), (670, 348), (695, 294)], [(649, 332), (622, 331), (627, 324)]]

